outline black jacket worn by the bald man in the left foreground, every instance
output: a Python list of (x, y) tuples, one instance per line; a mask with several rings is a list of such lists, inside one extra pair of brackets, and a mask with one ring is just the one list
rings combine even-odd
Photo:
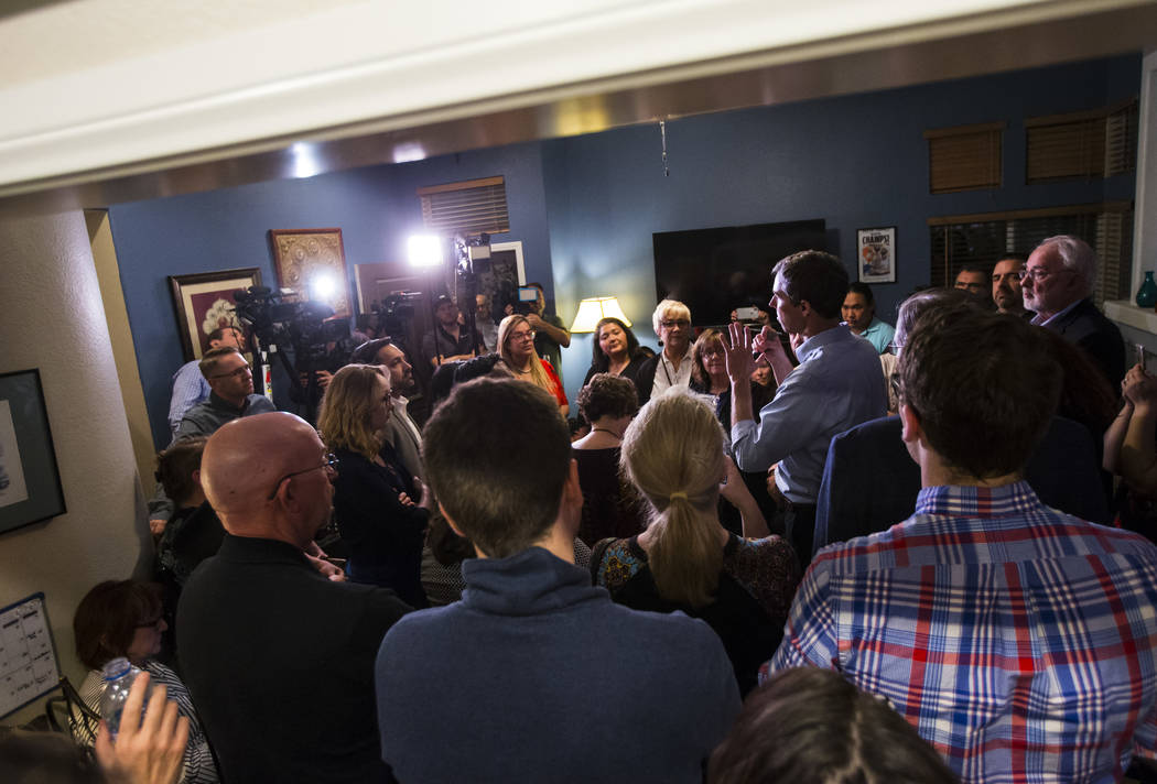
[(374, 661), (410, 608), (282, 541), (226, 535), (177, 608), (183, 676), (227, 782), (386, 782)]

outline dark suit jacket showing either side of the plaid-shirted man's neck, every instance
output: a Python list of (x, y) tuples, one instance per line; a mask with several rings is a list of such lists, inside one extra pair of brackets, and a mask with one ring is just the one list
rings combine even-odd
[[(1110, 522), (1097, 451), (1083, 424), (1054, 416), (1024, 478), (1046, 506), (1092, 523)], [(920, 466), (900, 439), (899, 416), (841, 432), (827, 448), (812, 552), (908, 519), (919, 493)]]

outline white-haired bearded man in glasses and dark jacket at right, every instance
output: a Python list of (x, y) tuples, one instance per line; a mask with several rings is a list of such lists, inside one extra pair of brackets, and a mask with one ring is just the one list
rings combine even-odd
[(1036, 311), (1032, 323), (1059, 333), (1084, 349), (1113, 391), (1125, 378), (1121, 331), (1092, 303), (1097, 253), (1070, 235), (1040, 243), (1020, 273), (1024, 306)]

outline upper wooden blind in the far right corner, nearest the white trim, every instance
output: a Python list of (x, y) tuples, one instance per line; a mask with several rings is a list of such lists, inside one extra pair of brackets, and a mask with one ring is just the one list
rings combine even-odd
[(1122, 175), (1137, 165), (1137, 102), (1033, 117), (1025, 126), (1025, 180)]

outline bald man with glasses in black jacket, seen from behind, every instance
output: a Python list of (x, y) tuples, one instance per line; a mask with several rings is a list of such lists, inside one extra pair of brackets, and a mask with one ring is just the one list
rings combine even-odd
[(226, 537), (180, 596), (177, 651), (226, 781), (391, 781), (374, 658), (410, 608), (327, 579), (303, 553), (330, 519), (333, 464), (282, 412), (229, 422), (205, 445), (201, 483)]

